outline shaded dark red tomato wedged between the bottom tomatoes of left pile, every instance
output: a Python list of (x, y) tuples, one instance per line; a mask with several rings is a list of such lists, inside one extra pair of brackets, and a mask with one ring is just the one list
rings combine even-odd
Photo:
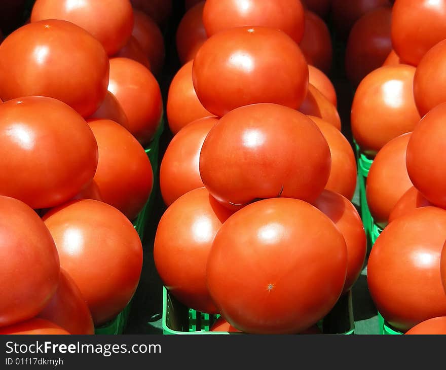
[(76, 283), (60, 270), (59, 284), (50, 302), (38, 318), (51, 321), (70, 334), (94, 334), (94, 324), (87, 303)]

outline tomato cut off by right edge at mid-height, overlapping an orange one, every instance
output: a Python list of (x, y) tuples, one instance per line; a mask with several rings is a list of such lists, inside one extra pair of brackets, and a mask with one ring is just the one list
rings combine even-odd
[(446, 139), (444, 115), (446, 103), (442, 103), (424, 116), (415, 127), (407, 146), (407, 172), (414, 186), (423, 196), (442, 208), (446, 207), (446, 174), (442, 167)]

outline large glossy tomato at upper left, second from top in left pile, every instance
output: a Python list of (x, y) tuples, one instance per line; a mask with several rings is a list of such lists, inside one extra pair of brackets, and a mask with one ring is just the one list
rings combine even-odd
[(54, 19), (30, 23), (0, 45), (0, 96), (49, 96), (88, 117), (104, 100), (108, 69), (104, 48), (81, 27)]

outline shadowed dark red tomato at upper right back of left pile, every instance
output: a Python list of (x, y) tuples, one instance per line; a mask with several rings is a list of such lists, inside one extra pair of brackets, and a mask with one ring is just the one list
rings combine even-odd
[(154, 75), (159, 75), (165, 56), (163, 34), (158, 25), (144, 13), (135, 10), (134, 17), (132, 35), (150, 60)]

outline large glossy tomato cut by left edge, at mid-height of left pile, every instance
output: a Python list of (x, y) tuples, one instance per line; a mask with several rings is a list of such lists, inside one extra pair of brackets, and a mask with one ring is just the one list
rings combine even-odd
[(48, 208), (92, 180), (97, 144), (85, 120), (53, 98), (26, 97), (0, 105), (0, 194)]

